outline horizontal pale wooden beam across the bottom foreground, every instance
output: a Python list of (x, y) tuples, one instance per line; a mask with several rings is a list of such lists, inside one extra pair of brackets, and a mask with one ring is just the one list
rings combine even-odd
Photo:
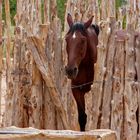
[[(111, 130), (94, 130), (78, 132), (71, 130), (38, 130), (34, 128), (9, 127), (0, 129), (0, 140), (117, 140)], [(5, 134), (4, 134), (5, 133)], [(9, 133), (9, 134), (6, 134)], [(13, 135), (11, 135), (13, 133)], [(14, 134), (15, 133), (15, 134)], [(16, 134), (17, 133), (17, 134)], [(20, 135), (21, 134), (21, 135)]]

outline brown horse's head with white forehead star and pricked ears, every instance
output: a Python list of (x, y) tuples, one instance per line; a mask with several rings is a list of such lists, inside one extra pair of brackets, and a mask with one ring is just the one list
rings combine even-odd
[(69, 31), (66, 34), (66, 50), (68, 55), (68, 64), (65, 68), (68, 78), (74, 79), (78, 74), (78, 68), (84, 59), (87, 51), (87, 28), (91, 25), (93, 17), (87, 22), (73, 23), (70, 14), (67, 16)]

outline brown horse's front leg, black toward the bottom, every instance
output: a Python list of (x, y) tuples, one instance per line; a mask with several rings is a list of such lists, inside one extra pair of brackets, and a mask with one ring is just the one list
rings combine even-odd
[(72, 92), (77, 103), (80, 130), (85, 131), (85, 126), (87, 122), (87, 115), (85, 113), (85, 93), (81, 92), (78, 88), (72, 89)]

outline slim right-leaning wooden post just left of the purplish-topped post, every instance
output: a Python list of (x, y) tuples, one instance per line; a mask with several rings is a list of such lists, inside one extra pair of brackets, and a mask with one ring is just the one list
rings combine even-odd
[[(102, 109), (101, 109), (101, 128), (110, 128), (110, 102), (112, 97), (112, 76), (113, 76), (113, 59), (115, 54), (115, 19), (111, 20), (111, 36), (109, 37), (107, 43), (107, 57), (105, 62), (105, 75), (104, 75), (104, 85), (102, 92)], [(106, 37), (105, 37), (106, 38)]]

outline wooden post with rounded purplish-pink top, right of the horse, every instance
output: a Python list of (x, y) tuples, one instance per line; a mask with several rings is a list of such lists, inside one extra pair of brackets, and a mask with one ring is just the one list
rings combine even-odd
[(123, 138), (124, 133), (124, 73), (125, 73), (125, 37), (126, 33), (122, 30), (116, 32), (115, 35), (115, 54), (113, 65), (113, 84), (112, 84), (112, 97), (111, 97), (111, 129), (117, 133), (117, 140)]

